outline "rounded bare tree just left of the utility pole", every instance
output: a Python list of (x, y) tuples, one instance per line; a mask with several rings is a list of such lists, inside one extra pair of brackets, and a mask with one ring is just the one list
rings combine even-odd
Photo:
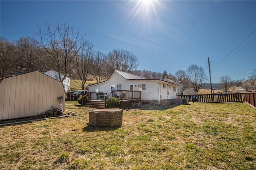
[(194, 90), (199, 90), (202, 84), (207, 80), (207, 76), (202, 66), (192, 64), (188, 66), (186, 74), (193, 85)]

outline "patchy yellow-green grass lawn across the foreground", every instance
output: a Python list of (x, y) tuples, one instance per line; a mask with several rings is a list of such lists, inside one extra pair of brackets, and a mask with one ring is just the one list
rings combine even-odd
[(1, 170), (256, 169), (256, 111), (244, 103), (127, 109), (122, 127), (81, 115), (0, 128)]

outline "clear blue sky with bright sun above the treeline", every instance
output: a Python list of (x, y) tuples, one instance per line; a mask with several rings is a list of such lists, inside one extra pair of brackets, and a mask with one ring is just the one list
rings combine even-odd
[(0, 5), (1, 36), (9, 40), (32, 37), (38, 23), (59, 21), (86, 33), (103, 53), (131, 51), (142, 70), (174, 73), (198, 64), (209, 75), (209, 57), (212, 82), (218, 82), (224, 75), (248, 78), (256, 68), (256, 1), (1, 0)]

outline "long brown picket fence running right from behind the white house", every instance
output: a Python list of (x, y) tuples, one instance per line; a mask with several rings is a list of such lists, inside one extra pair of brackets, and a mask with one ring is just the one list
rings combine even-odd
[(193, 95), (177, 95), (177, 97), (188, 98), (188, 102), (205, 102), (205, 103), (244, 102), (243, 93), (193, 94)]

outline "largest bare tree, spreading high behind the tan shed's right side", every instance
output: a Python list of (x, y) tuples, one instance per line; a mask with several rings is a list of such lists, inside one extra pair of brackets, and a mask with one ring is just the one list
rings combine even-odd
[[(43, 27), (43, 28), (42, 28)], [(38, 24), (39, 43), (52, 59), (52, 68), (59, 73), (59, 80), (63, 82), (67, 73), (74, 68), (74, 57), (80, 50), (80, 42), (85, 35), (80, 35), (79, 30), (67, 23), (46, 21), (43, 26)], [(62, 76), (63, 75), (63, 76)]]

